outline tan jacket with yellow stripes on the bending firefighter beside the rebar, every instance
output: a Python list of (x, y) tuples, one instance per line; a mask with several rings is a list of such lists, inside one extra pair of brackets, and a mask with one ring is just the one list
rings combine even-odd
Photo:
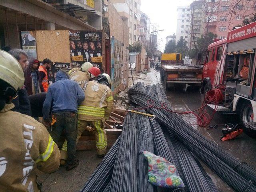
[(106, 85), (89, 81), (83, 86), (85, 99), (78, 106), (78, 119), (98, 121), (108, 117), (113, 108), (112, 91)]

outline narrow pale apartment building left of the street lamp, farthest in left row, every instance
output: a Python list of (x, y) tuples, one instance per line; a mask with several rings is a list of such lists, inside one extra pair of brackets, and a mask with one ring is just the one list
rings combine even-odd
[(138, 35), (142, 43), (150, 39), (150, 18), (145, 13), (141, 13)]

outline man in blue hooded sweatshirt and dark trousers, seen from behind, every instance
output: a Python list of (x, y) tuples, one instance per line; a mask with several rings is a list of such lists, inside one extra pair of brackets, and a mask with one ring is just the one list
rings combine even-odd
[(84, 101), (84, 98), (84, 92), (79, 84), (70, 80), (67, 72), (60, 70), (56, 74), (56, 82), (49, 86), (44, 100), (44, 121), (50, 124), (52, 116), (56, 119), (50, 130), (54, 142), (58, 142), (62, 131), (65, 130), (68, 143), (66, 166), (68, 171), (79, 164), (78, 159), (76, 159), (77, 108)]

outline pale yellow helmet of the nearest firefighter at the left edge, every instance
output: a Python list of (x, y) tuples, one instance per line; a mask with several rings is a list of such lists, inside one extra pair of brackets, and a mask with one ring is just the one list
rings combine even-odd
[(16, 91), (24, 85), (24, 73), (20, 63), (11, 54), (0, 50), (0, 79)]

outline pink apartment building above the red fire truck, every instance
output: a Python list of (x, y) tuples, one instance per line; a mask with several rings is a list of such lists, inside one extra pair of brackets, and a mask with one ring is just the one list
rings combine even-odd
[[(237, 1), (237, 2), (236, 2)], [(234, 26), (242, 25), (256, 11), (255, 1), (248, 0), (206, 0), (210, 22), (205, 24), (209, 32), (217, 34), (219, 39), (226, 38)]]

